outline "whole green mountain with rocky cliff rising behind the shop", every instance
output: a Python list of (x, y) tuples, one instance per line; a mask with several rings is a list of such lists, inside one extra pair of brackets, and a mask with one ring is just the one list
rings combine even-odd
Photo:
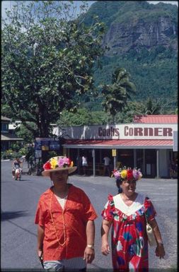
[[(108, 48), (101, 59), (103, 68), (96, 65), (94, 69), (96, 86), (110, 83), (112, 71), (123, 67), (137, 87), (132, 100), (160, 100), (166, 113), (176, 108), (178, 7), (147, 1), (96, 1), (85, 15), (86, 25), (93, 16), (106, 25), (103, 48)], [(92, 108), (97, 101), (100, 105), (99, 98)]]

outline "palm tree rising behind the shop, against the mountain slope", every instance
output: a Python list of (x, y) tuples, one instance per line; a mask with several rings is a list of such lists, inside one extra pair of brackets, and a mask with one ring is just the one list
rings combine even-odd
[(112, 73), (112, 84), (103, 85), (101, 92), (103, 95), (102, 105), (105, 108), (105, 112), (110, 112), (112, 115), (113, 123), (117, 112), (122, 111), (131, 93), (135, 93), (134, 83), (129, 81), (129, 76), (129, 73), (124, 68), (117, 68)]

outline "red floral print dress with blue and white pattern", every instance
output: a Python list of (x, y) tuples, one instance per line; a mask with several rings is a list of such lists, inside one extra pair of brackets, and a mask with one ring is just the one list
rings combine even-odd
[[(116, 197), (122, 199), (121, 194), (118, 194)], [(130, 215), (122, 212), (118, 205), (117, 208), (115, 207), (112, 195), (108, 196), (108, 203), (106, 203), (102, 211), (103, 219), (112, 221), (112, 266), (115, 271), (143, 272), (149, 270), (148, 241), (144, 213), (146, 218), (153, 220), (156, 211), (148, 197), (138, 194), (137, 199), (139, 201), (139, 209), (137, 211), (133, 209)], [(120, 200), (119, 203), (122, 205), (122, 202)]]

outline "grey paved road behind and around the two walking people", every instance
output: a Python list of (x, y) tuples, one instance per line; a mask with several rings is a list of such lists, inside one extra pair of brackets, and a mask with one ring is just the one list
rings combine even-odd
[[(24, 167), (25, 170), (25, 167)], [(96, 220), (96, 259), (88, 270), (112, 268), (111, 256), (100, 254), (100, 213), (108, 194), (116, 194), (115, 179), (108, 177), (69, 177), (69, 182), (81, 187), (91, 199), (98, 213)], [(23, 175), (21, 181), (11, 176), (11, 161), (1, 161), (1, 270), (40, 270), (36, 256), (37, 227), (34, 215), (37, 200), (51, 183), (48, 178)], [(149, 266), (160, 271), (177, 265), (177, 180), (142, 179), (137, 182), (137, 191), (151, 197), (158, 213), (166, 248), (166, 258), (156, 258), (154, 248), (149, 249)]]

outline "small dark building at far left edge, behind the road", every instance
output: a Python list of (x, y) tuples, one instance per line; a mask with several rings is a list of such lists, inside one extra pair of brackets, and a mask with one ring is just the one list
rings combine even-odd
[(23, 145), (23, 138), (19, 138), (14, 134), (14, 129), (9, 130), (11, 119), (1, 116), (1, 151), (11, 149), (14, 143), (21, 143)]

